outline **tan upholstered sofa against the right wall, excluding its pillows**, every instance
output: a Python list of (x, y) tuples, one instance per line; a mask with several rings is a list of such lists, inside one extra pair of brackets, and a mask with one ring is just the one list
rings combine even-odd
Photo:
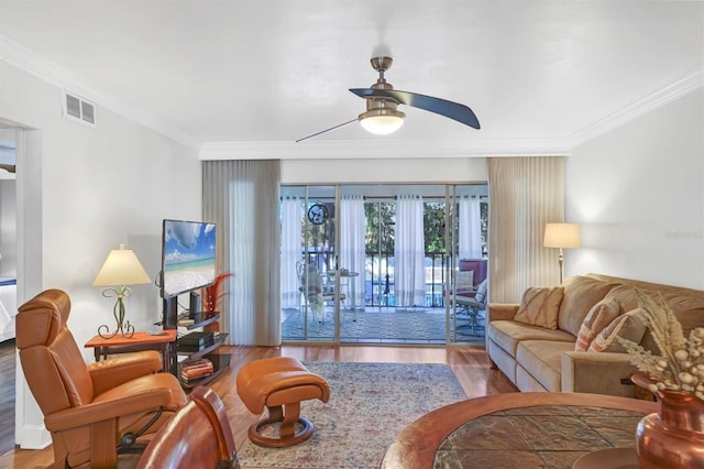
[[(704, 292), (602, 274), (565, 279), (559, 306), (558, 327), (548, 329), (514, 320), (517, 304), (487, 307), (486, 351), (520, 391), (586, 392), (634, 396), (628, 379), (635, 371), (625, 352), (575, 351), (580, 327), (590, 309), (610, 298), (620, 314), (638, 307), (634, 287), (647, 294), (662, 293), (685, 334), (704, 326)], [(640, 345), (659, 353), (652, 337), (645, 332)]]

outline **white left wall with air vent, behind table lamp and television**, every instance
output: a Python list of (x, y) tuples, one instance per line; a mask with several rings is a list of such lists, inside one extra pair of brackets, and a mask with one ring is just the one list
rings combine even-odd
[[(38, 129), (30, 133), (41, 135), (41, 145), (29, 145), (26, 159), (31, 161), (25, 165), (28, 174), (30, 166), (41, 171), (24, 178), (21, 167), (18, 172), (18, 223), (26, 225), (28, 239), (40, 240), (24, 254), (29, 263), (41, 265), (30, 265), (26, 272), (41, 279), (23, 280), (19, 265), (18, 282), (32, 287), (18, 301), (21, 304), (38, 290), (66, 291), (72, 298), (68, 326), (81, 346), (101, 324), (114, 327), (114, 299), (103, 298), (101, 288), (91, 286), (109, 251), (125, 243), (155, 277), (162, 219), (201, 217), (197, 151), (100, 106), (95, 129), (65, 119), (59, 88), (1, 61), (0, 81), (0, 120)], [(41, 194), (41, 203), (31, 205), (38, 207), (32, 210), (41, 211), (34, 217), (41, 221), (33, 222), (36, 214), (23, 214), (23, 200), (36, 194)], [(22, 253), (19, 258), (21, 263)], [(20, 285), (18, 290), (22, 290)], [(154, 285), (132, 290), (133, 296), (127, 301), (128, 319), (144, 329), (160, 316), (158, 291)], [(92, 359), (89, 350), (84, 353)], [(33, 433), (42, 422), (36, 422), (31, 406), (25, 405), (25, 397), (31, 399), (22, 386), (19, 382), (20, 444), (23, 437), (38, 440)]]

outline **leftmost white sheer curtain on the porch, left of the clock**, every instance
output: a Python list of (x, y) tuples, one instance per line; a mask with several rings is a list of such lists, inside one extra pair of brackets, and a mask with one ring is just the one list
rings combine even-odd
[(282, 200), (282, 307), (300, 307), (300, 291), (296, 262), (301, 259), (300, 231), (302, 227), (300, 209), (302, 203), (297, 197)]

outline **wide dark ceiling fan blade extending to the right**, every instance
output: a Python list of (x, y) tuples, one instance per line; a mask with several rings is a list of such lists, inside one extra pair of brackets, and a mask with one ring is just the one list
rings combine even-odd
[(440, 116), (457, 120), (474, 129), (480, 128), (480, 121), (469, 107), (447, 99), (432, 96), (418, 95), (417, 92), (399, 91), (395, 89), (351, 88), (350, 91), (360, 98), (389, 98), (399, 105), (435, 112)]

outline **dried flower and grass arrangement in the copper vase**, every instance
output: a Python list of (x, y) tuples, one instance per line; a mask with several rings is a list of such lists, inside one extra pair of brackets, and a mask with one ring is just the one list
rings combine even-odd
[(644, 310), (641, 319), (652, 332), (660, 356), (619, 338), (631, 356), (631, 363), (651, 380), (648, 386), (651, 392), (680, 391), (704, 401), (704, 328), (692, 329), (685, 339), (682, 325), (662, 295), (656, 302), (638, 290), (636, 294)]

